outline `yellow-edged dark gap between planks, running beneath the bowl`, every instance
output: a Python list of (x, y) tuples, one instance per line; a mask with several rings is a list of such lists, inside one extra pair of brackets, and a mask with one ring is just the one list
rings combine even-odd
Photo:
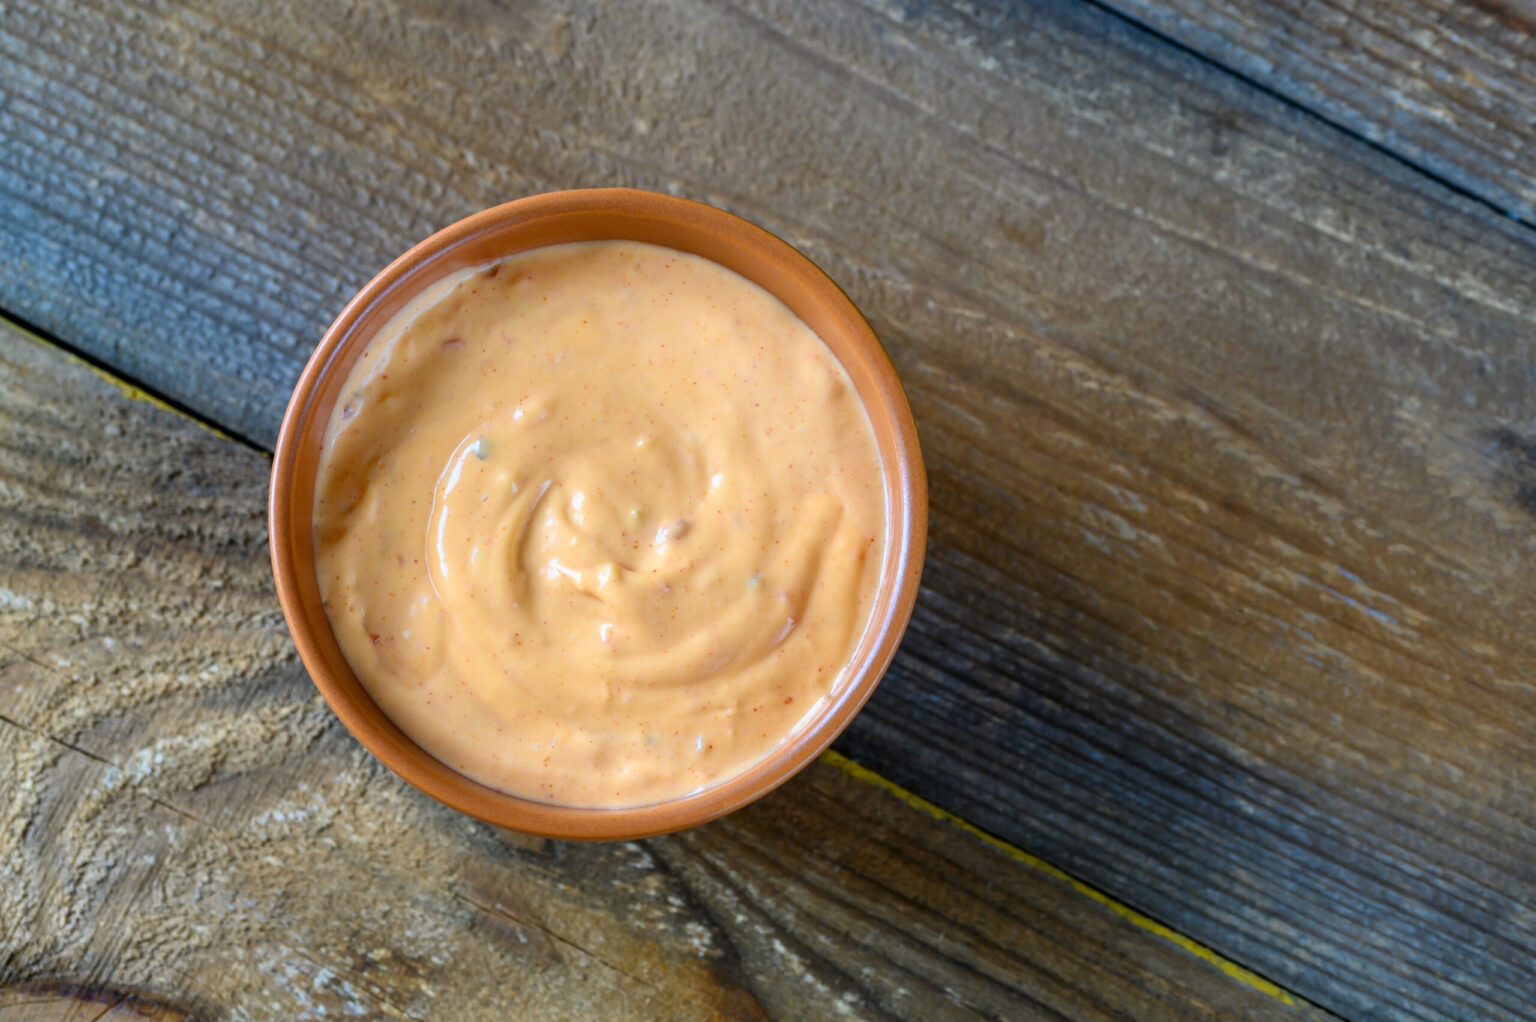
[[(170, 412), (172, 415), (177, 415), (177, 416), (181, 416), (184, 420), (189, 420), (190, 423), (194, 423), (200, 429), (206, 429), (207, 432), (210, 432), (210, 433), (214, 433), (214, 435), (217, 435), (217, 436), (220, 436), (223, 440), (227, 440), (230, 443), (237, 443), (237, 444), (240, 444), (243, 447), (249, 447), (250, 450), (255, 450), (257, 453), (260, 453), (261, 456), (264, 456), (267, 460), (270, 460), (270, 456), (272, 456), (270, 450), (267, 450), (264, 446), (255, 443), (253, 440), (250, 440), (247, 436), (243, 436), (240, 433), (232, 433), (232, 432), (226, 430), (223, 426), (220, 426), (214, 420), (209, 420), (209, 418), (200, 415), (198, 412), (195, 412), (194, 409), (186, 407), (180, 401), (177, 401), (177, 400), (174, 400), (174, 398), (170, 398), (170, 397), (167, 397), (164, 393), (160, 393), (154, 387), (144, 386), (144, 384), (141, 384), (137, 380), (124, 377), (117, 369), (114, 369), (111, 364), (108, 364), (108, 363), (104, 363), (101, 360), (97, 360), (97, 358), (94, 358), (94, 357), (91, 357), (91, 355), (78, 350), (77, 347), (74, 347), (72, 344), (69, 344), (63, 338), (60, 338), (57, 335), (52, 335), (48, 330), (43, 330), (43, 329), (40, 329), (40, 327), (28, 323), (26, 320), (23, 320), (23, 318), (11, 314), (6, 309), (0, 309), (0, 324), (9, 326), (17, 333), (20, 333), (22, 337), (31, 340), (35, 344), (41, 344), (45, 347), (52, 347), (52, 349), (57, 349), (57, 350), (63, 352), (65, 357), (68, 357), (72, 361), (84, 366), (86, 369), (89, 369), (92, 373), (95, 373), (101, 380), (111, 383), (129, 401), (143, 401), (146, 404), (152, 404), (157, 409), (161, 409), (164, 412)], [(1054, 879), (1057, 882), (1066, 884), (1075, 893), (1078, 893), (1083, 898), (1089, 899), (1091, 902), (1103, 907), (1104, 910), (1114, 913), (1115, 916), (1124, 919), (1126, 922), (1129, 922), (1130, 925), (1137, 927), (1138, 930), (1143, 930), (1143, 931), (1146, 931), (1146, 933), (1149, 933), (1149, 934), (1152, 934), (1152, 936), (1155, 936), (1155, 937), (1158, 937), (1161, 941), (1166, 941), (1166, 942), (1172, 944), (1174, 947), (1177, 947), (1177, 948), (1180, 948), (1180, 950), (1183, 950), (1183, 951), (1186, 951), (1189, 954), (1193, 954), (1200, 961), (1203, 961), (1207, 965), (1212, 965), (1213, 968), (1217, 968), (1226, 977), (1229, 977), (1229, 979), (1232, 979), (1232, 981), (1235, 981), (1238, 984), (1243, 984), (1244, 987), (1250, 987), (1252, 990), (1256, 990), (1258, 993), (1261, 993), (1261, 994), (1264, 994), (1267, 997), (1272, 997), (1272, 999), (1278, 1000), (1279, 1004), (1284, 1004), (1286, 1007), (1292, 1007), (1292, 1008), (1306, 1007), (1306, 1008), (1310, 1008), (1310, 1010), (1313, 1010), (1313, 1011), (1316, 1011), (1316, 1013), (1319, 1013), (1319, 1014), (1322, 1014), (1326, 1017), (1336, 1017), (1336, 1016), (1333, 1016), (1333, 1013), (1330, 1013), (1326, 1008), (1313, 1004), (1307, 997), (1304, 997), (1304, 996), (1301, 996), (1298, 993), (1293, 993), (1290, 990), (1286, 990), (1279, 984), (1276, 984), (1276, 982), (1273, 982), (1270, 979), (1266, 979), (1264, 976), (1255, 973), (1250, 968), (1246, 968), (1246, 967), (1240, 965), (1238, 962), (1235, 962), (1235, 961), (1223, 956), (1220, 951), (1215, 951), (1213, 948), (1206, 947), (1200, 941), (1195, 941), (1190, 936), (1178, 933), (1177, 930), (1174, 930), (1174, 928), (1170, 928), (1170, 927), (1158, 922), (1152, 916), (1147, 916), (1147, 914), (1144, 914), (1141, 911), (1137, 911), (1130, 905), (1126, 905), (1124, 902), (1117, 901), (1115, 898), (1106, 894), (1100, 888), (1097, 888), (1097, 887), (1094, 887), (1094, 885), (1091, 885), (1091, 884), (1087, 884), (1087, 882), (1084, 882), (1084, 881), (1072, 876), (1071, 873), (1068, 873), (1066, 870), (1063, 870), (1063, 868), (1060, 868), (1057, 865), (1052, 865), (1046, 859), (1041, 859), (1037, 854), (1025, 851), (1023, 848), (1020, 848), (1020, 847), (1017, 847), (1014, 844), (1009, 844), (1008, 841), (1003, 841), (997, 835), (992, 835), (992, 833), (983, 830), (982, 827), (977, 827), (975, 824), (972, 824), (971, 821), (965, 819), (963, 816), (960, 816), (957, 813), (952, 813), (952, 811), (943, 808), (942, 805), (929, 802), (923, 796), (920, 796), (920, 795), (917, 795), (914, 791), (909, 791), (908, 788), (902, 787), (895, 781), (891, 781), (885, 775), (876, 773), (874, 770), (869, 770), (868, 767), (863, 767), (863, 765), (854, 762), (848, 756), (843, 756), (842, 753), (839, 753), (839, 752), (836, 752), (833, 748), (825, 750), (820, 756), (817, 756), (817, 759), (820, 762), (823, 762), (823, 764), (836, 768), (837, 771), (843, 773), (845, 776), (848, 776), (848, 778), (851, 778), (854, 781), (859, 781), (860, 784), (868, 784), (868, 785), (871, 785), (874, 788), (879, 788), (879, 790), (885, 791), (886, 795), (894, 796), (900, 802), (903, 802), (908, 807), (911, 807), (911, 808), (923, 813), (925, 816), (929, 816), (931, 819), (940, 821), (940, 822), (948, 824), (951, 827), (957, 827), (963, 833), (966, 833), (971, 838), (980, 841), (982, 844), (988, 845), (989, 848), (1001, 853), (1008, 859), (1012, 859), (1014, 862), (1018, 862), (1020, 865), (1025, 865), (1025, 867), (1028, 867), (1028, 868), (1031, 868), (1031, 870), (1034, 870), (1037, 873), (1043, 873), (1044, 876), (1049, 876), (1051, 879)]]

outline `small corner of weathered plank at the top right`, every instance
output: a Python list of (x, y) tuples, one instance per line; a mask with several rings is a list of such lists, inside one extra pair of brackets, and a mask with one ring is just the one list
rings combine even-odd
[(1106, 0), (1536, 226), (1531, 0)]

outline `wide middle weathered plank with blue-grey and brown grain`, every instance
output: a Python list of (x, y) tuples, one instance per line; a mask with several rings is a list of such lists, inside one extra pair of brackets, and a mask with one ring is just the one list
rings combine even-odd
[(1069, 3), (26, 0), (0, 52), (0, 306), (258, 443), (476, 207), (780, 232), (931, 472), (840, 747), (1341, 1014), (1528, 1010), (1524, 227)]

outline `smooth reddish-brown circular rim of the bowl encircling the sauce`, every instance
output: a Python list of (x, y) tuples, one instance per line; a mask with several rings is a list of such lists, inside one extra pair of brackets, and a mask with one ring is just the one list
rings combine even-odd
[[(530, 231), (550, 229), (553, 223), (570, 221), (571, 217), (578, 220), (596, 217), (601, 223), (604, 217), (614, 214), (636, 223), (654, 224), (660, 231), (682, 231), (700, 247), (740, 255), (743, 260), (760, 260), (763, 266), (771, 267), (763, 272), (776, 277), (777, 286), (750, 274), (743, 277), (768, 289), (802, 318), (805, 317), (800, 307), (825, 314), (840, 330), (840, 337), (857, 350), (859, 367), (868, 375), (871, 387), (869, 393), (860, 389), (860, 403), (871, 418), (877, 443), (882, 430), (880, 424), (874, 423), (877, 409), (871, 407), (871, 397), (880, 400), (880, 410), (885, 412), (883, 418), (891, 429), (889, 450), (882, 446), (888, 499), (888, 556), (880, 589), (885, 599), (877, 595), (865, 629), (866, 638), (860, 642), (860, 649), (866, 649), (866, 653), (862, 661), (856, 661), (857, 670), (842, 682), (842, 693), (811, 725), (743, 773), (700, 791), (648, 805), (582, 808), (508, 795), (452, 770), (407, 738), (373, 704), (344, 659), (339, 659), (341, 667), (336, 667), (339, 647), (330, 622), (318, 604), (318, 596), (306, 596), (306, 570), (307, 589), (318, 593), (318, 582), (313, 579), (313, 547), (309, 543), (309, 529), (304, 527), (312, 512), (304, 507), (301, 515), (295, 499), (296, 492), (303, 490), (296, 473), (301, 469), (301, 447), (309, 435), (306, 430), (313, 430), (312, 423), (318, 418), (315, 406), (319, 387), (330, 366), (349, 344), (361, 347), (372, 337), (372, 330), (358, 332), (370, 312), (386, 300), (399, 301), (399, 295), (393, 292), (401, 286), (410, 287), (402, 292), (406, 297), (418, 294), (435, 280), (430, 277), (435, 263), (487, 234), (527, 235)], [(602, 232), (598, 237), (644, 240)], [(544, 244), (508, 247), (508, 254)], [(714, 255), (705, 258), (727, 264), (727, 260)], [(800, 307), (796, 307), (797, 304)], [(376, 329), (378, 324), (373, 326)], [(817, 332), (822, 333), (820, 329)], [(840, 361), (848, 366), (845, 358), (840, 357)], [(319, 429), (323, 430), (324, 424)], [(492, 206), (449, 224), (389, 263), (343, 307), (306, 363), (284, 410), (272, 452), (267, 527), (278, 601), (300, 659), (343, 725), (386, 767), (439, 802), (498, 827), (562, 839), (634, 839), (693, 827), (768, 795), (809, 765), (863, 708), (895, 655), (917, 599), (928, 536), (928, 481), (917, 446), (917, 426), (889, 355), (854, 303), (816, 263), (782, 238), (714, 206), (625, 187), (568, 189)], [(894, 558), (889, 553), (891, 547), (895, 550)], [(309, 553), (307, 562), (304, 553)], [(889, 590), (883, 584), (885, 578), (892, 579)]]

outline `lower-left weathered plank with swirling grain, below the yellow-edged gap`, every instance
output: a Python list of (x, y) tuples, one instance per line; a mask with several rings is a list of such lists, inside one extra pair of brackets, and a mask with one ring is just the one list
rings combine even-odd
[(0, 327), (0, 1017), (1321, 1017), (829, 764), (631, 844), (432, 802), (295, 662), (266, 476)]

